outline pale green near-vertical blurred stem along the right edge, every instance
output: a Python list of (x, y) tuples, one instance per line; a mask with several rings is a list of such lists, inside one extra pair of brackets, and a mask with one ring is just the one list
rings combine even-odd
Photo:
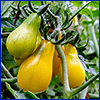
[(95, 47), (97, 57), (99, 58), (99, 46), (98, 46), (98, 42), (97, 42), (97, 39), (96, 39), (94, 26), (92, 24), (89, 25), (89, 31), (90, 31), (90, 34), (92, 36), (93, 42), (94, 42), (94, 47)]

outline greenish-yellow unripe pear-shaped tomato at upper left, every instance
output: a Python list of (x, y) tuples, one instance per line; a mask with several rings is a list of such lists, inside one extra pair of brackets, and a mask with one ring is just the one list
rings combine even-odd
[(36, 46), (41, 17), (32, 13), (19, 27), (7, 38), (8, 52), (16, 59), (28, 57)]

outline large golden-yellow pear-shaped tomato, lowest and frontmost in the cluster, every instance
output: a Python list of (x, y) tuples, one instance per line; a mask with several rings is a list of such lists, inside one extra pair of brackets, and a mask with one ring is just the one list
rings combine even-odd
[(45, 91), (52, 78), (52, 63), (55, 46), (43, 40), (35, 52), (21, 64), (18, 71), (20, 89), (31, 92)]

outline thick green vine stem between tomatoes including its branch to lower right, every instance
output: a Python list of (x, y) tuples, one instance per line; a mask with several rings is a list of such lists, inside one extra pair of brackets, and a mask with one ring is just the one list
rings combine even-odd
[(70, 90), (69, 81), (68, 81), (68, 73), (67, 73), (67, 63), (66, 63), (66, 58), (65, 58), (64, 52), (61, 48), (61, 45), (55, 45), (55, 47), (56, 47), (56, 50), (57, 50), (59, 57), (61, 59), (61, 62), (62, 62), (63, 99), (70, 99), (73, 95), (84, 90), (88, 85), (90, 85), (94, 80), (96, 80), (99, 77), (99, 73), (97, 73), (95, 76), (90, 78), (86, 83), (84, 83), (80, 87)]

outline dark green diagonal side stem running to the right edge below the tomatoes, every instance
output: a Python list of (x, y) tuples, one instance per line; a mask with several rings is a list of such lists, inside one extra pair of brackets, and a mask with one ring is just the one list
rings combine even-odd
[(70, 91), (68, 98), (71, 98), (73, 95), (75, 95), (75, 94), (79, 93), (80, 91), (82, 91), (83, 89), (85, 89), (88, 85), (90, 85), (98, 77), (99, 77), (99, 73), (97, 73), (95, 76), (93, 76), (92, 78), (90, 78), (86, 83), (84, 83), (80, 87), (78, 87), (78, 88), (73, 89), (72, 91)]

